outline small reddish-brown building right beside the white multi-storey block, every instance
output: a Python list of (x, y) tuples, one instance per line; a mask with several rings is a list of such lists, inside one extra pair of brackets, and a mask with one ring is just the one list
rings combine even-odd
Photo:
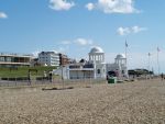
[(67, 57), (67, 55), (59, 54), (59, 66), (64, 66), (70, 63), (70, 59)]

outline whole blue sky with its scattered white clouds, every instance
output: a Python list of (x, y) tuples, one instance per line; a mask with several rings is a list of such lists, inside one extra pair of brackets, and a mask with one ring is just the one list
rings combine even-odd
[[(88, 58), (94, 46), (130, 69), (165, 72), (165, 0), (0, 0), (0, 53), (56, 50)], [(148, 57), (148, 53), (151, 56)]]

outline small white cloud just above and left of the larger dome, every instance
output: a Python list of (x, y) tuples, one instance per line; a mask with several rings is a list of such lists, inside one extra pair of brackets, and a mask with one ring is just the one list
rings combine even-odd
[(85, 38), (77, 38), (75, 40), (75, 43), (81, 46), (85, 45), (92, 45), (92, 41), (91, 40), (85, 40)]

